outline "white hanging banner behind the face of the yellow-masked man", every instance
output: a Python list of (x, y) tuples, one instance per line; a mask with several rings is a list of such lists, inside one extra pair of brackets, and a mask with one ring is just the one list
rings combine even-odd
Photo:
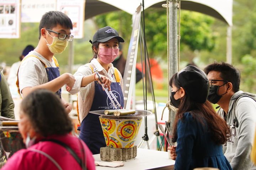
[(83, 38), (85, 0), (57, 0), (57, 11), (62, 11), (71, 19), (73, 23), (71, 34), (74, 38)]

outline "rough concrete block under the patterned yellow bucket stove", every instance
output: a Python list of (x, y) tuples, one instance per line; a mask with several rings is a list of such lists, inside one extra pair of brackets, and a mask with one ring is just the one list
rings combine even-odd
[(103, 161), (122, 161), (132, 159), (137, 156), (137, 146), (132, 148), (100, 148), (100, 158)]

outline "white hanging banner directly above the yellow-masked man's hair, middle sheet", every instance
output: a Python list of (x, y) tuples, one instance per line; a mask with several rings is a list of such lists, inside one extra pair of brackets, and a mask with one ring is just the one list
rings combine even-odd
[(40, 22), (44, 13), (56, 10), (56, 0), (22, 0), (21, 22)]

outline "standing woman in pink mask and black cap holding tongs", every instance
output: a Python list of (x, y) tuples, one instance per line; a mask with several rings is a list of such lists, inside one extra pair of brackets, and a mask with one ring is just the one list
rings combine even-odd
[[(78, 113), (81, 122), (79, 137), (86, 143), (93, 154), (100, 153), (101, 147), (106, 147), (105, 138), (98, 115), (89, 111), (115, 109), (103, 91), (95, 68), (101, 76), (105, 87), (113, 92), (117, 101), (123, 107), (123, 79), (120, 72), (113, 67), (112, 62), (118, 55), (119, 42), (124, 40), (110, 26), (100, 28), (93, 36), (90, 63), (78, 68), (74, 74), (76, 79), (73, 89), (66, 87), (71, 94), (78, 93)], [(120, 108), (118, 108), (120, 109)]]

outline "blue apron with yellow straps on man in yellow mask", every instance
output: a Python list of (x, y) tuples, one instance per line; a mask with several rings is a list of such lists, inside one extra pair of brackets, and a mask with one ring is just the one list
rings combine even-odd
[[(46, 64), (41, 60), (41, 58), (37, 57), (36, 55), (27, 56), (25, 58), (25, 60), (28, 57), (36, 57), (38, 60), (40, 60), (44, 64), (44, 67), (46, 68), (46, 73), (47, 73), (47, 76), (48, 76), (48, 81), (52, 81), (53, 79), (60, 76), (59, 63), (58, 63), (57, 59), (54, 56), (53, 56), (52, 59), (53, 59), (55, 65), (56, 65), (56, 67), (47, 67)], [(24, 59), (21, 62), (23, 62), (23, 61), (24, 61)], [(18, 72), (17, 72), (16, 85), (18, 87), (18, 94), (20, 94), (20, 87), (19, 87), (19, 81), (18, 81)], [(56, 94), (61, 98), (61, 88), (56, 92)]]

